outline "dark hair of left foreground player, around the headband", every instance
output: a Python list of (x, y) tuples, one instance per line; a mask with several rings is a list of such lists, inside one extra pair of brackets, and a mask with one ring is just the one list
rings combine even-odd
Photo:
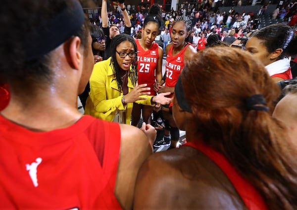
[[(32, 94), (41, 84), (52, 80), (50, 67), (51, 52), (26, 61), (24, 37), (36, 32), (40, 26), (47, 25), (65, 8), (73, 6), (74, 0), (3, 0), (0, 8), (0, 78), (11, 89)], [(87, 21), (76, 32), (81, 39), (84, 52), (88, 49)], [(47, 29), (50, 30), (50, 29)], [(38, 32), (38, 31), (37, 31)], [(58, 33), (58, 32), (57, 32)], [(30, 37), (29, 37), (30, 38)], [(69, 37), (70, 38), (70, 37)], [(5, 41), (3, 41), (5, 40)], [(35, 43), (32, 42), (32, 46)], [(16, 92), (16, 91), (15, 91)]]

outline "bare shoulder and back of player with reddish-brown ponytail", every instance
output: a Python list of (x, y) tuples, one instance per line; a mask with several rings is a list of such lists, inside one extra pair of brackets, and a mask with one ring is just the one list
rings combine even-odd
[[(233, 185), (216, 164), (188, 146), (148, 157), (138, 175), (136, 195), (136, 207), (142, 205), (148, 209), (244, 207)], [(158, 199), (158, 195), (162, 198)]]

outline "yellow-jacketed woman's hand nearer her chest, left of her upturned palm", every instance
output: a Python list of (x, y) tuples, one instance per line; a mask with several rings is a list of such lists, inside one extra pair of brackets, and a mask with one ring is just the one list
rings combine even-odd
[(141, 97), (150, 94), (150, 88), (147, 84), (136, 85), (130, 93), (124, 96), (125, 103), (133, 103), (139, 100), (146, 100), (146, 97)]

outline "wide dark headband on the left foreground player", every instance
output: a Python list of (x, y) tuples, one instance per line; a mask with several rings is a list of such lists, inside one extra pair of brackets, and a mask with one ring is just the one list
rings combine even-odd
[(23, 42), (25, 60), (31, 61), (49, 53), (75, 35), (84, 22), (85, 14), (80, 2), (72, 0), (71, 7), (63, 9), (49, 22), (25, 35)]

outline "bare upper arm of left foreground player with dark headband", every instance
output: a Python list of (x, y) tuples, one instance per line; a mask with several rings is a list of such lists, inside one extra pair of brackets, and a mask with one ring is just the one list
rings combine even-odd
[(138, 171), (152, 149), (143, 131), (125, 124), (120, 127), (121, 147), (114, 194), (124, 210), (131, 210)]

